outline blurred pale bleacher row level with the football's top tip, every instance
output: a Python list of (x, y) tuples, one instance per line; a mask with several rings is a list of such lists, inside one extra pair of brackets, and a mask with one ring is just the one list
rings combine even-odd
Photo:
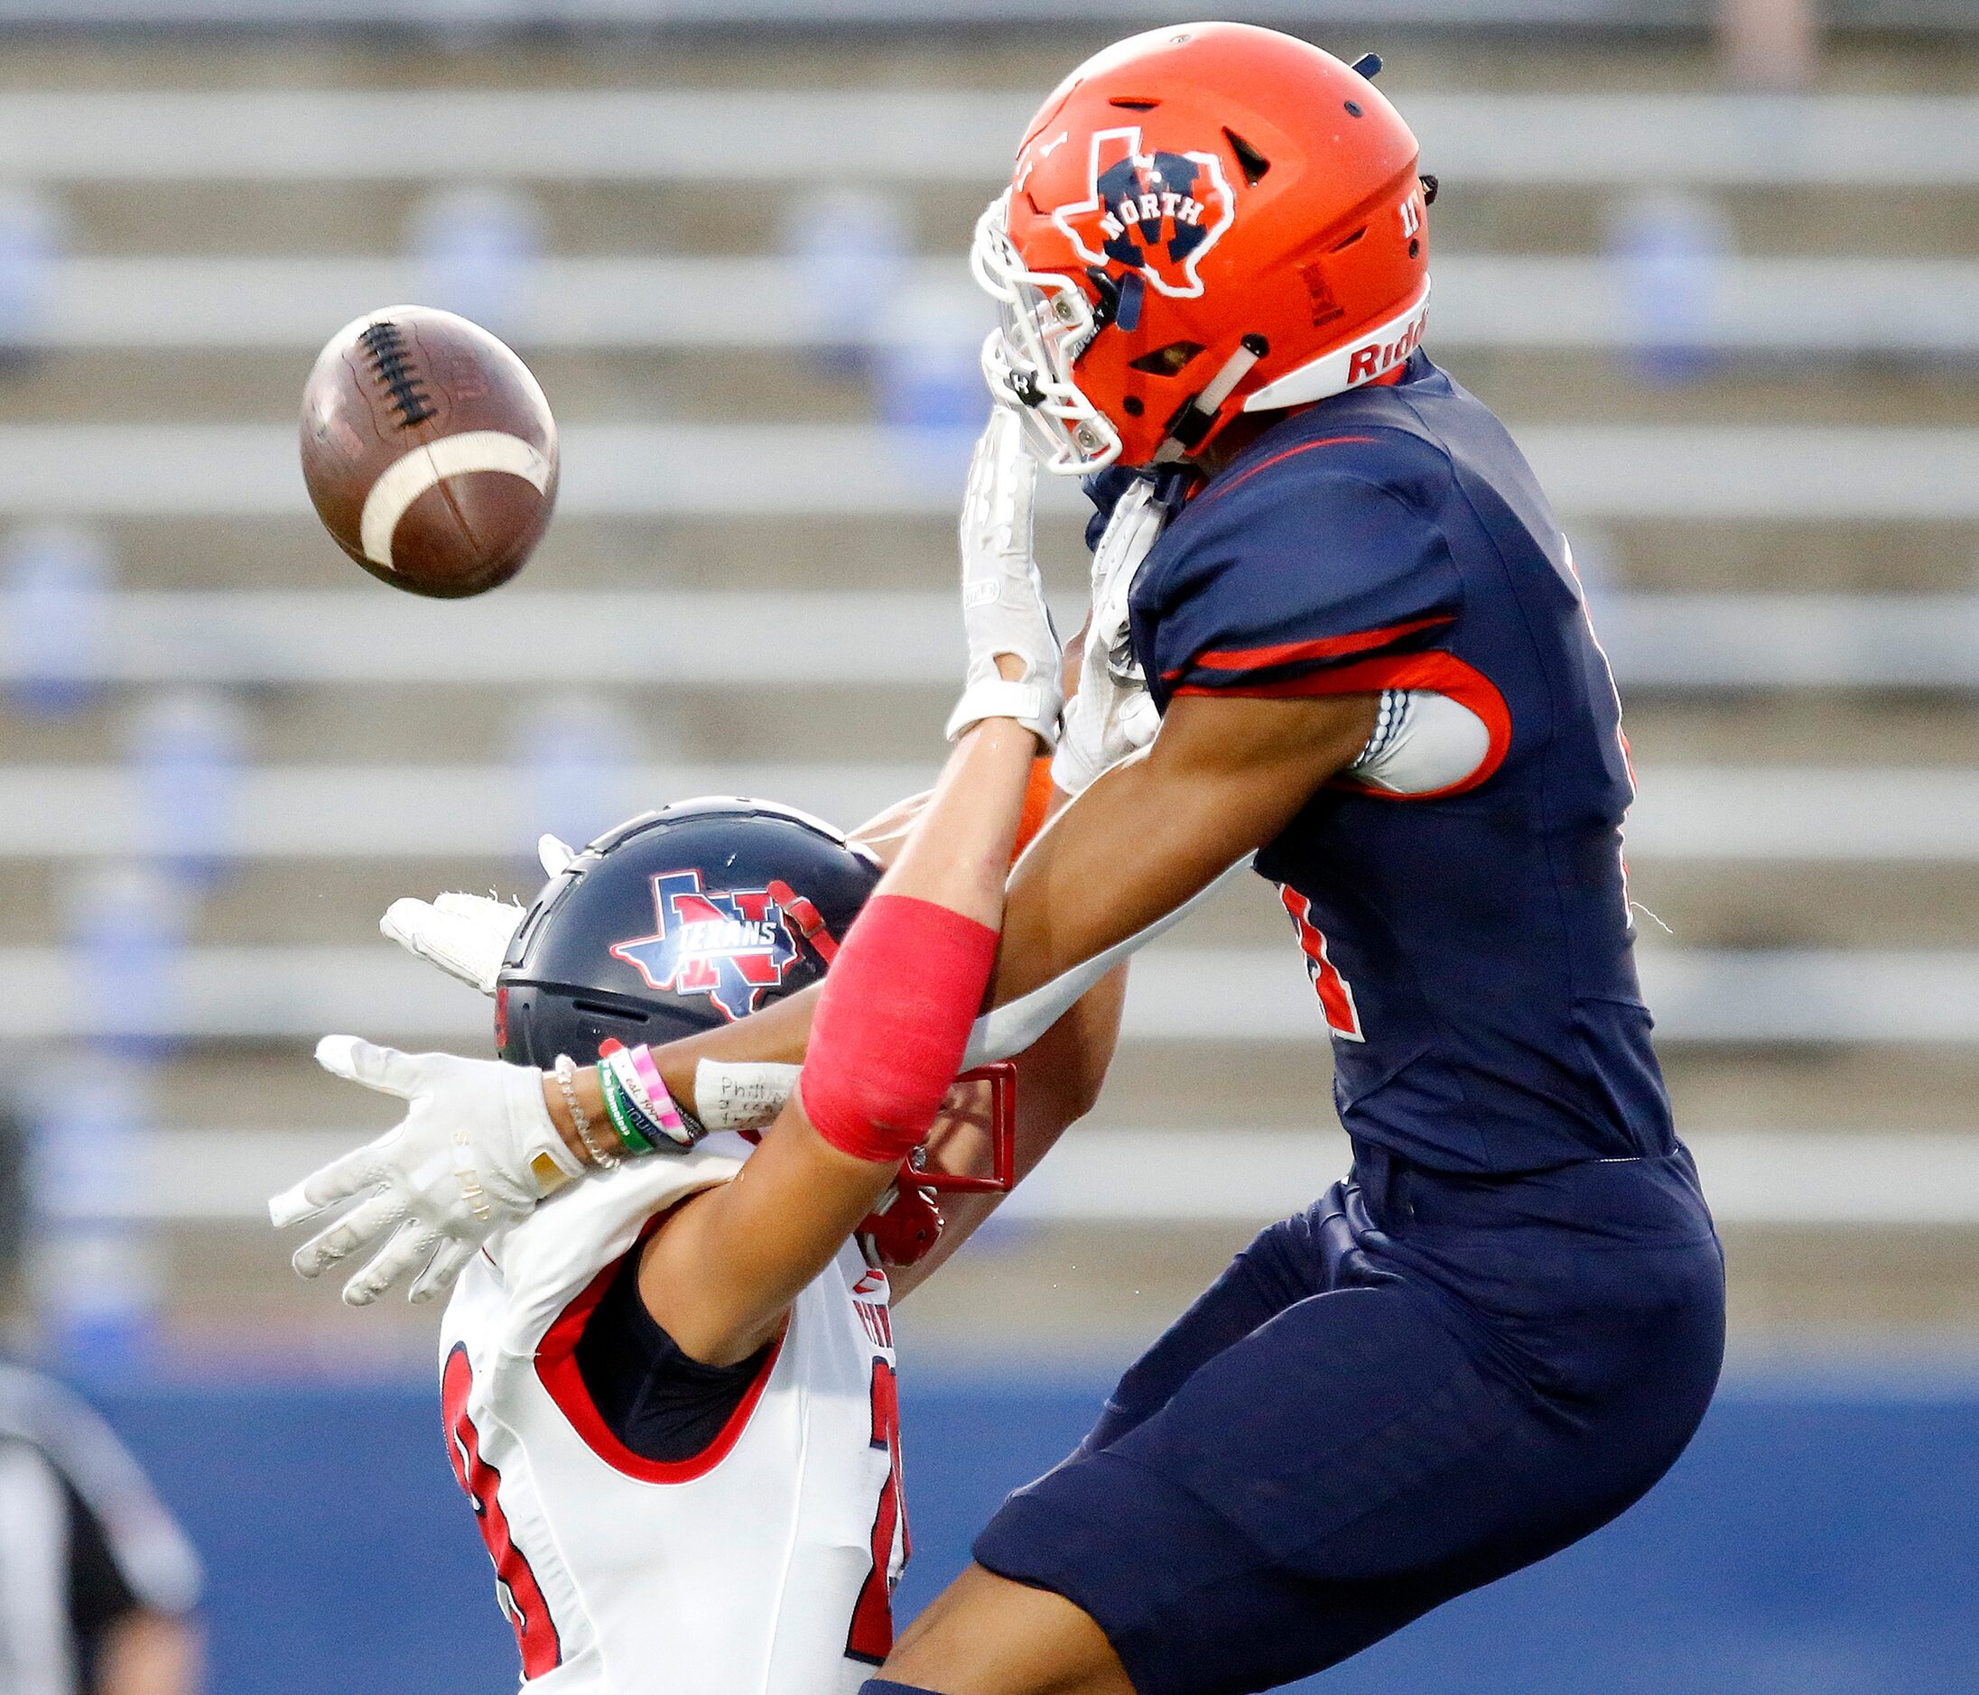
[[(412, 261), (350, 255), (73, 257), (55, 265), (26, 344), (307, 352), (325, 324), (420, 299), (424, 283)], [(950, 312), (980, 305), (956, 259), (916, 261), (904, 283)], [(1627, 352), (1641, 330), (1625, 291), (1623, 267), (1599, 257), (1439, 255), (1437, 344)], [(821, 340), (833, 314), (786, 259), (564, 255), (526, 267), (511, 334), (532, 350), (784, 350)], [(1743, 354), (1979, 352), (1979, 261), (1728, 257), (1688, 334)]]

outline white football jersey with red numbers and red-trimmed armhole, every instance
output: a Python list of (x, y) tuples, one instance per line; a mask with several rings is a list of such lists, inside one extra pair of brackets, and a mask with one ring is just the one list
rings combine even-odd
[(847, 1244), (726, 1428), (641, 1460), (576, 1343), (647, 1222), (738, 1169), (740, 1137), (653, 1155), (536, 1208), (461, 1274), (441, 1327), (455, 1475), (530, 1695), (839, 1695), (893, 1642), (906, 1561), (887, 1274)]

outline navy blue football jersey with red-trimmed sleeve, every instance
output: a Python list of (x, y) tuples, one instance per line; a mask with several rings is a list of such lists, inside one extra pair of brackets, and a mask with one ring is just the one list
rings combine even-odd
[(1401, 382), (1276, 423), (1156, 542), (1130, 635), (1164, 712), (1364, 690), (1466, 708), (1476, 758), (1453, 781), (1344, 775), (1257, 856), (1354, 1137), (1451, 1171), (1672, 1147), (1615, 684), (1559, 524), (1474, 396), (1415, 354)]

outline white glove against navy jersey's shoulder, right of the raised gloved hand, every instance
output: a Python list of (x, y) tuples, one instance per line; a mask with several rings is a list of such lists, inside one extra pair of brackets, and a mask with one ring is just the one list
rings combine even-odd
[(1112, 510), (1092, 550), (1092, 619), (1079, 661), (1079, 692), (1065, 704), (1065, 728), (1051, 781), (1067, 795), (1084, 793), (1162, 728), (1154, 696), (1128, 647), (1128, 593), (1168, 514), (1154, 485), (1136, 481)]

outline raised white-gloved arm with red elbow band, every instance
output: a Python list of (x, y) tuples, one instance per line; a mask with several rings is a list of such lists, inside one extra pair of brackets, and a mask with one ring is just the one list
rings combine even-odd
[(962, 1070), (995, 969), (1011, 850), (1059, 724), (1059, 645), (1031, 558), (1035, 467), (995, 413), (970, 467), (970, 670), (932, 797), (831, 965), (798, 1092), (738, 1177), (651, 1236), (639, 1292), (691, 1357), (748, 1359), (845, 1246)]

